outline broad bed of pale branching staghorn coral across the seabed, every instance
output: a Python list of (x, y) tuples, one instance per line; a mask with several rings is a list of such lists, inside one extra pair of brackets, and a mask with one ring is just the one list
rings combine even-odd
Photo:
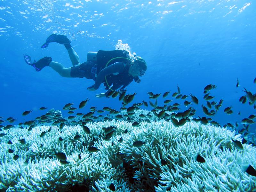
[[(137, 110), (138, 114), (148, 111)], [(155, 117), (152, 117), (157, 120)], [(139, 121), (139, 118), (136, 120)], [(112, 139), (104, 140), (102, 127), (116, 125)], [(241, 140), (228, 129), (189, 122), (175, 127), (165, 120), (131, 122), (111, 120), (88, 123), (90, 134), (80, 125), (65, 125), (60, 132), (40, 137), (49, 126), (36, 126), (30, 132), (15, 128), (4, 130), (0, 138), (0, 189), (6, 191), (254, 191), (256, 177), (248, 175), (237, 163), (256, 167), (256, 148), (244, 144), (235, 147), (230, 137)], [(124, 134), (124, 130), (128, 133)], [(81, 138), (74, 140), (78, 134)], [(63, 141), (59, 141), (59, 137)], [(95, 140), (93, 140), (93, 137)], [(123, 142), (116, 139), (123, 138)], [(24, 138), (26, 144), (18, 140)], [(8, 145), (8, 140), (13, 144)], [(146, 142), (136, 148), (134, 141)], [(114, 145), (111, 142), (114, 142)], [(88, 152), (88, 147), (100, 150)], [(8, 149), (14, 150), (13, 154)], [(54, 155), (63, 152), (68, 164), (61, 164)], [(14, 154), (20, 157), (13, 159)], [(78, 158), (81, 154), (81, 160)], [(194, 160), (200, 154), (205, 163)], [(167, 161), (161, 165), (161, 159)]]

